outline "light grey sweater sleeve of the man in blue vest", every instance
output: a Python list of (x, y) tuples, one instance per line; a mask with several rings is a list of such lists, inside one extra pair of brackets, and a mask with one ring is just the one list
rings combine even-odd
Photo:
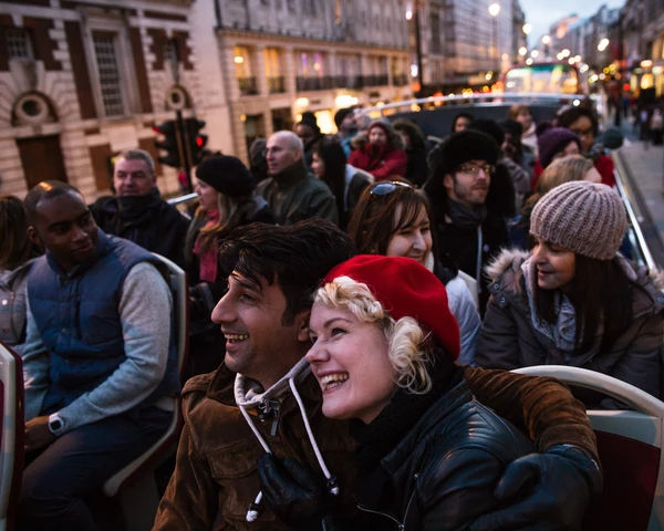
[(173, 301), (153, 264), (141, 262), (131, 269), (118, 310), (126, 360), (97, 387), (58, 412), (62, 433), (141, 404), (166, 373)]

